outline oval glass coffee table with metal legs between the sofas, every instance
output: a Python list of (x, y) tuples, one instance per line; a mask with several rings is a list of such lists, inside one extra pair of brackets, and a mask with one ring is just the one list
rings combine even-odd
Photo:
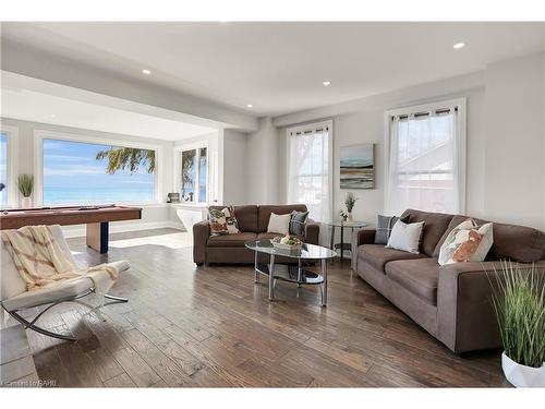
[[(263, 274), (269, 280), (269, 300), (275, 300), (276, 280), (294, 282), (298, 287), (302, 285), (319, 285), (322, 294), (322, 305), (327, 304), (327, 261), (337, 255), (330, 249), (322, 245), (304, 243), (301, 250), (282, 250), (272, 246), (270, 240), (254, 240), (244, 243), (246, 248), (255, 252), (254, 282), (259, 282), (259, 275)], [(269, 255), (269, 263), (259, 263), (258, 254)], [(298, 264), (275, 263), (277, 256), (294, 258)], [(322, 263), (320, 274), (303, 266), (304, 261), (319, 261)]]

